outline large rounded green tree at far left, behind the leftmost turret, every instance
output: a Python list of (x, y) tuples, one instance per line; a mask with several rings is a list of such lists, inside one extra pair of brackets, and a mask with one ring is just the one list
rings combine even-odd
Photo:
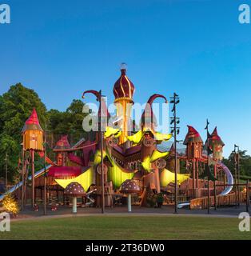
[(5, 175), (7, 153), (10, 181), (13, 181), (17, 174), (18, 158), (22, 150), (22, 127), (33, 108), (36, 108), (43, 127), (46, 121), (46, 106), (34, 90), (18, 83), (10, 86), (10, 90), (0, 96), (0, 162), (2, 163), (0, 175)]

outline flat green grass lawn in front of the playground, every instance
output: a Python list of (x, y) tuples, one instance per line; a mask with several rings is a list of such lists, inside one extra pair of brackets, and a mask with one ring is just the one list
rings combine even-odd
[(91, 216), (12, 222), (0, 239), (251, 239), (237, 218)]

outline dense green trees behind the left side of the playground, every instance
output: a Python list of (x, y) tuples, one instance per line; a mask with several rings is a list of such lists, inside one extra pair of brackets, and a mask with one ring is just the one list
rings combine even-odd
[[(14, 182), (18, 178), (18, 159), (21, 158), (22, 136), (21, 130), (29, 118), (33, 108), (37, 110), (42, 129), (50, 134), (70, 134), (70, 142), (76, 142), (84, 136), (82, 120), (86, 114), (82, 113), (84, 103), (74, 100), (66, 111), (46, 110), (38, 94), (21, 83), (10, 86), (5, 94), (0, 95), (0, 178), (5, 177), (6, 163), (8, 179)], [(6, 158), (7, 156), (7, 158)], [(39, 157), (36, 156), (37, 160)], [(37, 161), (37, 165), (42, 163)]]

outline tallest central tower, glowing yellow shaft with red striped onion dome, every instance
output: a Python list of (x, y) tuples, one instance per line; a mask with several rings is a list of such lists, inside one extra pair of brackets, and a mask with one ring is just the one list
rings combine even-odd
[(122, 135), (119, 138), (119, 143), (123, 144), (126, 142), (129, 133), (129, 123), (131, 110), (133, 105), (133, 94), (134, 86), (133, 82), (129, 80), (126, 76), (126, 64), (121, 65), (121, 76), (118, 78), (117, 82), (114, 84), (114, 104), (117, 108), (117, 117), (122, 118)]

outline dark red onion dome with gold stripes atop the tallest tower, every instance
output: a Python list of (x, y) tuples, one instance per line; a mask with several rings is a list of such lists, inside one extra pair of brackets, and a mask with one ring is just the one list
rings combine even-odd
[(122, 63), (121, 66), (122, 74), (118, 81), (114, 84), (114, 96), (115, 101), (118, 102), (120, 99), (127, 99), (129, 102), (133, 102), (134, 86), (133, 82), (129, 80), (126, 76), (126, 66), (125, 63)]

